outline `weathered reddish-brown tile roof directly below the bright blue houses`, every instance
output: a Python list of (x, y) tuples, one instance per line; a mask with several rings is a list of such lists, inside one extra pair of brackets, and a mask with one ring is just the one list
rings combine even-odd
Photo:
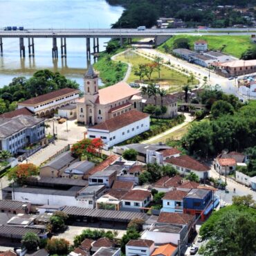
[(161, 212), (158, 222), (188, 225), (194, 221), (194, 215), (176, 212)]

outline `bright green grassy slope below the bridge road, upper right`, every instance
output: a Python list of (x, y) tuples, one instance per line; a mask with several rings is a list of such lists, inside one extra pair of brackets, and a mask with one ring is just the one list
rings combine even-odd
[[(208, 42), (208, 49), (214, 51), (222, 51), (223, 53), (233, 55), (240, 58), (250, 46), (253, 46), (253, 42), (248, 35), (175, 35), (165, 42), (170, 48), (173, 48), (174, 41), (178, 38), (188, 38), (190, 49), (194, 49), (194, 42), (199, 39), (203, 39)], [(161, 51), (165, 51), (162, 44), (159, 46)]]

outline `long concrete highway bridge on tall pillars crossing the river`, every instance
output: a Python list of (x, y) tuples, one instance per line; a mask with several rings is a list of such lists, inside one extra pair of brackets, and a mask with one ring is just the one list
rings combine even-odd
[(3, 38), (19, 38), (19, 52), (25, 57), (24, 39), (28, 39), (28, 56), (35, 56), (35, 38), (52, 38), (53, 59), (58, 58), (57, 39), (60, 39), (61, 57), (66, 58), (66, 38), (84, 38), (86, 40), (86, 56), (91, 58), (91, 39), (93, 39), (93, 53), (99, 52), (99, 38), (120, 39), (122, 46), (125, 39), (131, 44), (132, 38), (154, 38), (156, 45), (163, 44), (173, 35), (255, 35), (256, 28), (173, 28), (173, 29), (25, 29), (0, 30), (0, 54), (3, 55)]

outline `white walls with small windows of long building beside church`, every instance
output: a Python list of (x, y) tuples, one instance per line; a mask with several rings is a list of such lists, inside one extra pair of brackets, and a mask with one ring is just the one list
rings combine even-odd
[(149, 130), (149, 126), (150, 120), (149, 116), (147, 116), (147, 118), (143, 118), (142, 120), (139, 120), (112, 132), (109, 132), (107, 130), (93, 129), (93, 127), (89, 128), (87, 138), (93, 138), (91, 136), (95, 136), (95, 138), (102, 138), (105, 144), (104, 149), (108, 149), (109, 147), (113, 147), (113, 145), (121, 143), (124, 140), (127, 140), (131, 137), (143, 133), (144, 131)]

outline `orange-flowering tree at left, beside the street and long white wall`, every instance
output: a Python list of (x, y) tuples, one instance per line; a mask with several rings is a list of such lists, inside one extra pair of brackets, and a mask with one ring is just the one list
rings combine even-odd
[(30, 176), (37, 176), (39, 168), (33, 163), (21, 163), (10, 168), (8, 172), (8, 180), (15, 181), (22, 185)]

